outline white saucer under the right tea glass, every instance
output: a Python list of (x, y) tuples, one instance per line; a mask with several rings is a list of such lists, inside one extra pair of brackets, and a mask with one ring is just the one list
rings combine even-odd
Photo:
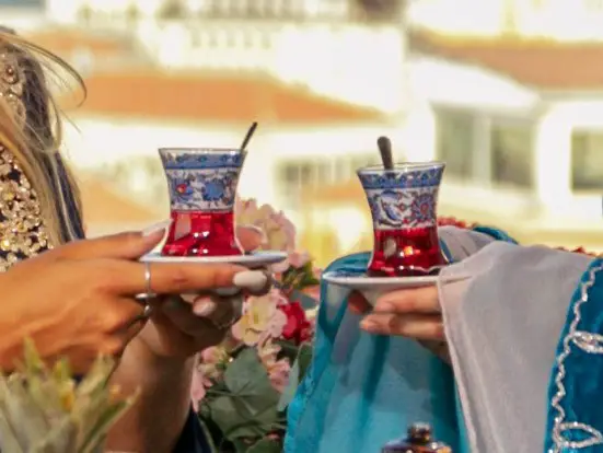
[[(374, 305), (376, 298), (385, 292), (432, 287), (438, 283), (439, 276), (425, 277), (369, 277), (367, 275), (350, 274), (341, 270), (335, 270), (323, 274), (322, 278), (338, 287), (360, 291), (367, 300)], [(465, 280), (468, 276), (456, 276), (447, 278), (445, 282)]]

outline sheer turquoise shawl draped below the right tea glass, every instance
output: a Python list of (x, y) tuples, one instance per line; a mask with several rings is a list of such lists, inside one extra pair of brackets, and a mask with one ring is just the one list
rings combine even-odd
[[(497, 230), (480, 233), (512, 242)], [(456, 253), (451, 248), (442, 242), (449, 259), (463, 257), (462, 245)], [(362, 274), (369, 257), (347, 256), (326, 271)], [(321, 284), (314, 357), (289, 405), (285, 452), (378, 453), (409, 423), (425, 421), (455, 453), (467, 453), (451, 368), (414, 340), (360, 330), (361, 317), (347, 310), (347, 295)]]

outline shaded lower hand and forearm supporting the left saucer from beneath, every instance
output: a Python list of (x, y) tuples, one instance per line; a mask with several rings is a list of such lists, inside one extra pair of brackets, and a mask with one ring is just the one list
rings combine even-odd
[[(247, 251), (257, 248), (263, 239), (254, 229), (239, 229), (237, 235)], [(265, 272), (246, 270), (230, 284), (221, 286), (235, 287), (230, 298), (220, 298), (214, 291), (182, 291), (190, 295), (170, 297), (156, 305), (150, 322), (126, 349), (113, 378), (125, 392), (140, 390), (140, 398), (109, 433), (111, 449), (174, 450), (190, 410), (194, 356), (222, 341), (231, 322), (241, 315), (241, 292), (267, 291), (269, 284)]]

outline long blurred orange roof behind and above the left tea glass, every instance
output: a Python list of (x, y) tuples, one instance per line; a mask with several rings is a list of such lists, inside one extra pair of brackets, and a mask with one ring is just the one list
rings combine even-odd
[(81, 109), (190, 121), (323, 123), (381, 119), (376, 109), (329, 100), (262, 76), (161, 72), (96, 73)]

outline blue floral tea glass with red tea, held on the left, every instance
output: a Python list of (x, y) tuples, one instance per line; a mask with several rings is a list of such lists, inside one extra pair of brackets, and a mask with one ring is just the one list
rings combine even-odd
[(245, 153), (237, 149), (159, 150), (172, 225), (162, 254), (228, 256), (243, 251), (234, 233), (234, 198)]

